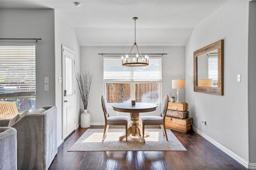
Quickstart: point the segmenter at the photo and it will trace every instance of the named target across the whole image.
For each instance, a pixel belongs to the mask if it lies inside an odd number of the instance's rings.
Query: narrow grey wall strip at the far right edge
[[[256,1],[249,2],[249,59],[248,59],[248,100],[249,100],[249,162],[256,166]]]

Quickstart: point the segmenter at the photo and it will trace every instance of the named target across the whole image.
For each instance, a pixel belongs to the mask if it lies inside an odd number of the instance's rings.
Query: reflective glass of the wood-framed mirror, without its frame
[[[218,87],[218,50],[198,56],[197,63],[198,86]]]

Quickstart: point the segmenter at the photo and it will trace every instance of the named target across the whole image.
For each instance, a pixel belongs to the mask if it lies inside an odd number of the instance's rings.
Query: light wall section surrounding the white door
[[[58,77],[62,77],[62,45],[72,49],[76,52],[75,54],[75,70],[80,69],[80,46],[78,44],[74,29],[68,25],[68,23],[55,12],[55,96],[56,106],[58,108],[58,120],[57,120],[57,140],[58,144],[62,142],[62,83],[58,83]],[[76,82],[75,82],[76,84]],[[79,127],[80,123],[80,96],[76,86],[76,128]]]

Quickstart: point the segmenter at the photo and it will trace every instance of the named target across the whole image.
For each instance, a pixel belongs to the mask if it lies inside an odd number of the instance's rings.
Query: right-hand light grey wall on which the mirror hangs
[[[224,95],[194,92],[193,52],[220,39],[224,39]],[[194,29],[186,44],[186,101],[194,127],[230,150],[240,163],[249,161],[247,68],[248,2],[228,1]],[[237,74],[242,75],[241,82],[236,82]],[[200,126],[203,119],[206,126]]]

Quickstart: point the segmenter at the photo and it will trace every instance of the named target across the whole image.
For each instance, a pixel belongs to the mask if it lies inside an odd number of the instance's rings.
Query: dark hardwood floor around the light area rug
[[[172,131],[187,151],[68,152],[87,129],[79,127],[64,141],[49,170],[246,170],[194,131]]]

